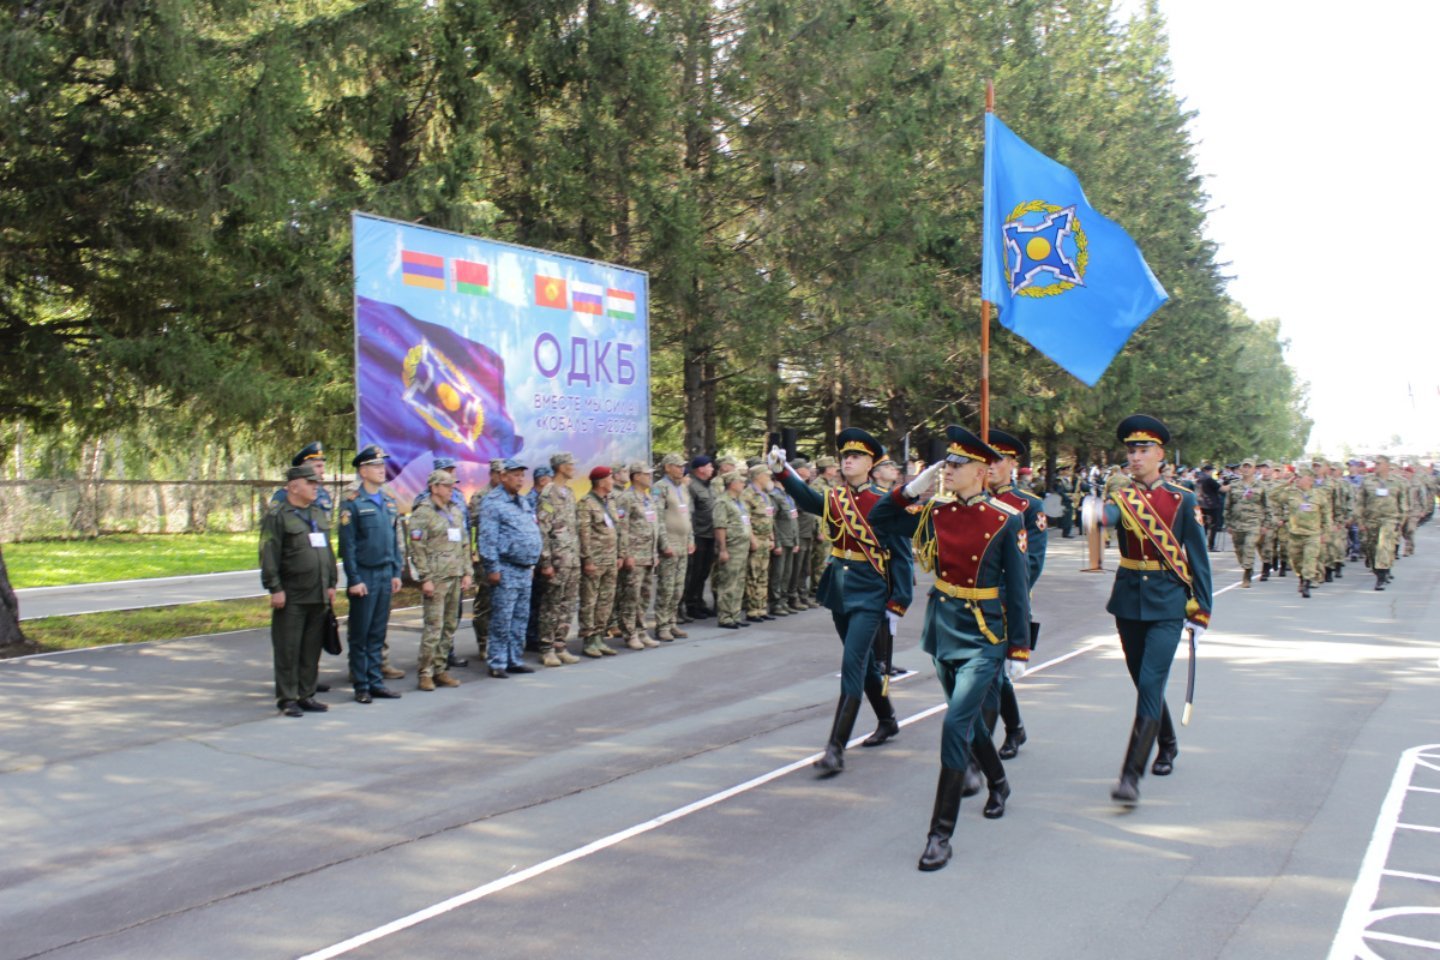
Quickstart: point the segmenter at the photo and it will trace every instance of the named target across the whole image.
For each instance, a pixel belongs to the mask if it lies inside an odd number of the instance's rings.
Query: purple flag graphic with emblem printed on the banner
[[[494,350],[366,296],[356,334],[363,442],[383,446],[396,469],[426,452],[481,463],[524,446]]]

